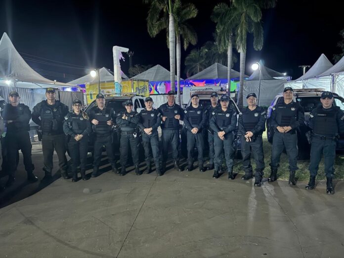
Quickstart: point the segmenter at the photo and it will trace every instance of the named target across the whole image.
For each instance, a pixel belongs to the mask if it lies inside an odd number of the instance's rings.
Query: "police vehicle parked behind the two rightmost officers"
[[[305,121],[305,125],[297,130],[299,148],[298,159],[309,159],[310,140],[309,133],[307,133],[310,130],[307,127],[309,113],[313,110],[313,108],[321,105],[320,97],[323,91],[325,91],[325,89],[323,88],[294,89],[294,101],[298,102],[303,107]],[[333,105],[339,106],[342,110],[344,110],[344,98],[337,93],[333,93],[333,96],[335,98]],[[278,103],[281,103],[282,101],[284,101],[283,93],[279,93],[273,98],[273,100],[271,101],[271,105],[267,109],[266,134],[267,140],[270,143],[272,143],[274,134],[274,129],[271,127],[270,124],[272,107]],[[344,150],[344,134],[340,134],[340,140],[337,142],[337,150]]]

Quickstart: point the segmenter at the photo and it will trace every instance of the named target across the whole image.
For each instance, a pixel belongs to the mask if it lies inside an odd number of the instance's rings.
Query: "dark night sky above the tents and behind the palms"
[[[185,78],[185,56],[192,48],[213,40],[215,24],[210,15],[215,4],[223,1],[190,0],[199,9],[197,18],[190,20],[198,34],[198,43],[190,45],[186,52],[182,50],[182,78]],[[1,35],[6,32],[29,65],[41,69],[48,79],[68,82],[89,72],[86,67],[105,66],[113,70],[113,45],[134,51],[133,64],[160,64],[169,70],[166,33],[154,39],[149,37],[148,6],[142,0],[0,2]],[[276,8],[263,12],[262,50],[255,51],[252,36],[248,38],[245,74],[252,73],[250,66],[259,59],[273,70],[287,72],[293,79],[302,75],[299,65],[312,65],[321,53],[333,63],[333,55],[340,52],[337,43],[341,40],[339,32],[344,29],[342,12],[339,1],[279,0]],[[128,68],[129,58],[122,63],[125,73]],[[239,71],[239,63],[234,69]]]

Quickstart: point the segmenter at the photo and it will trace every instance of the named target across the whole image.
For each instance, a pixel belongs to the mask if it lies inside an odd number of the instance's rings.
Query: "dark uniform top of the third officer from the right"
[[[238,129],[242,135],[245,135],[247,131],[258,135],[265,131],[265,121],[266,111],[263,108],[257,106],[254,110],[250,110],[246,107],[239,114]]]

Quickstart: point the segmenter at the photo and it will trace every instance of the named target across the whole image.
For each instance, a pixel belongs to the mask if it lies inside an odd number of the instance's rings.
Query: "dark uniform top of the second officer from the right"
[[[290,118],[289,125],[282,124],[282,116],[284,113],[289,112],[290,114],[293,113],[293,116]],[[304,125],[304,112],[303,108],[294,101],[286,104],[284,101],[282,103],[278,103],[277,105],[272,107],[272,113],[270,117],[271,126],[277,130],[279,126],[290,126],[292,129],[288,131],[288,133],[295,133],[295,129]]]

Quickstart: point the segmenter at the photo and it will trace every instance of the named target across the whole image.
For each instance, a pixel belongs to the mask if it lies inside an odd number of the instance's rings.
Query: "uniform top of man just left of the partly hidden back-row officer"
[[[189,131],[191,131],[193,128],[197,128],[198,131],[200,131],[206,126],[208,111],[202,106],[199,105],[197,108],[195,108],[190,105],[186,108],[184,113],[184,125]]]

